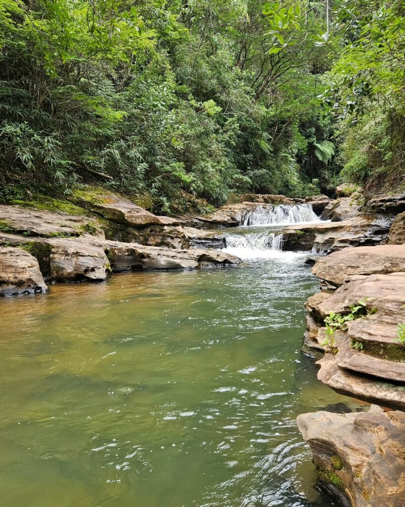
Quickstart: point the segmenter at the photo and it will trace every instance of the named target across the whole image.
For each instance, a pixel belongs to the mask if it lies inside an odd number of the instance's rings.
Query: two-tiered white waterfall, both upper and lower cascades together
[[[310,204],[258,205],[245,215],[240,227],[225,234],[226,247],[222,251],[240,259],[282,258],[289,262],[307,253],[282,251],[282,234],[277,231],[277,226],[317,222],[320,218]]]

